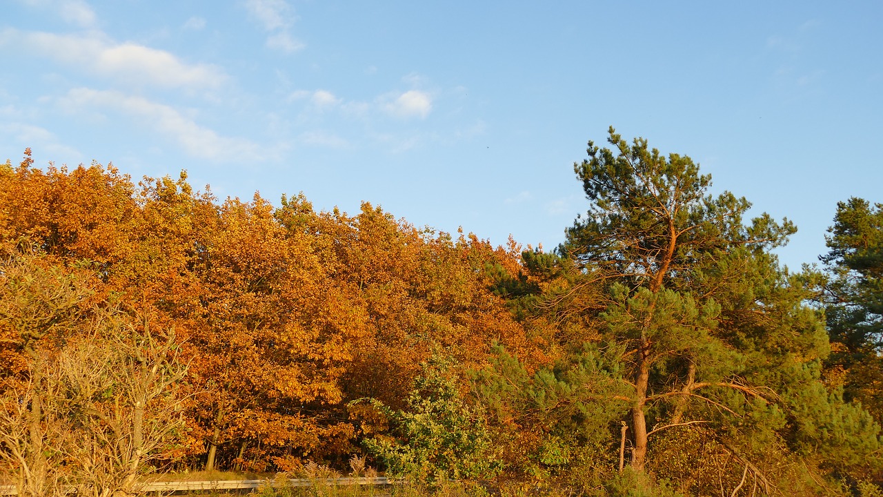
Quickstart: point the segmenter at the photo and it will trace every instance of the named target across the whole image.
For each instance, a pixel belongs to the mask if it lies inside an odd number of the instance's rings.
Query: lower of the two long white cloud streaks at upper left
[[[238,137],[220,136],[199,126],[177,109],[140,96],[126,96],[117,91],[74,88],[61,102],[68,108],[107,108],[132,116],[165,134],[191,157],[219,162],[253,161],[265,156],[257,143]]]

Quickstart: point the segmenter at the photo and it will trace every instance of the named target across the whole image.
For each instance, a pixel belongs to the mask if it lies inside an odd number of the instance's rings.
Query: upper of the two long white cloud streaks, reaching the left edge
[[[0,47],[14,45],[88,73],[169,88],[216,88],[227,76],[215,65],[189,65],[170,52],[132,42],[114,43],[102,35],[0,32]]]

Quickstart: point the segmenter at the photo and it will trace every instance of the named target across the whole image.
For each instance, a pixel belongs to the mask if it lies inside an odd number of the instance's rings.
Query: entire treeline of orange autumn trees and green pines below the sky
[[[126,492],[367,457],[476,492],[879,492],[880,206],[842,204],[828,271],[792,273],[787,220],[608,141],[551,253],[0,165],[4,474]]]

